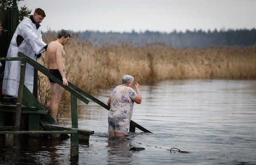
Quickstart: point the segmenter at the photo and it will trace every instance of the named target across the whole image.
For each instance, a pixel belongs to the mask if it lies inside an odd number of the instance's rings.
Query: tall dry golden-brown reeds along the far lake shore
[[[74,35],[74,34],[73,34]],[[46,43],[56,36],[43,36]],[[163,43],[144,47],[122,45],[93,46],[71,37],[64,46],[67,80],[88,93],[121,83],[123,75],[132,75],[141,85],[167,79],[256,79],[256,46],[250,48],[210,47],[171,48]],[[46,67],[45,53],[39,61]],[[50,100],[49,82],[40,77],[43,105]],[[62,98],[69,97],[67,91]]]

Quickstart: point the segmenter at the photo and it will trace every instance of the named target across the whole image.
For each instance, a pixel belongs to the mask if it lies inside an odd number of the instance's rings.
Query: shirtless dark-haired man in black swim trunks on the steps
[[[63,82],[63,85],[68,85],[65,77],[65,52],[63,45],[69,43],[70,34],[67,30],[62,29],[58,34],[58,39],[52,41],[47,48],[47,68],[49,73]],[[63,88],[49,78],[51,86],[51,102],[50,113],[54,120],[57,121],[58,105],[61,100]]]

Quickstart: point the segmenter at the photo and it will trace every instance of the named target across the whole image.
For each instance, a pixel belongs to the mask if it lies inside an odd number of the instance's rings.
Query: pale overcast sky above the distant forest
[[[185,32],[256,28],[256,0],[24,0],[42,8],[43,32]]]

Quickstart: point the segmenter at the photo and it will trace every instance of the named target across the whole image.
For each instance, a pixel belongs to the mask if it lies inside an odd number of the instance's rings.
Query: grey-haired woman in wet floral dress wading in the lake
[[[136,92],[131,88],[135,86]],[[125,136],[133,114],[133,104],[141,104],[139,84],[134,83],[134,78],[125,75],[122,84],[112,91],[107,104],[109,106],[108,122],[110,136]]]

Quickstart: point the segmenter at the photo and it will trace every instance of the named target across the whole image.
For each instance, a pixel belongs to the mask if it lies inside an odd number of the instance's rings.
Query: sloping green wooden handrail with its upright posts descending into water
[[[30,64],[32,67],[49,77],[51,80],[56,82],[57,84],[61,85],[64,89],[66,89],[69,93],[71,93],[71,117],[72,117],[72,128],[78,128],[78,117],[77,117],[77,98],[83,101],[85,104],[89,103],[88,99],[94,101],[96,104],[104,107],[105,109],[109,110],[107,104],[104,104],[97,98],[91,96],[89,93],[86,93],[82,89],[78,88],[77,86],[73,85],[71,82],[68,82],[68,86],[64,86],[58,78],[54,77],[48,72],[48,69],[43,65],[37,63],[36,61],[30,59],[23,53],[19,52],[20,57],[13,57],[13,58],[0,58],[0,61],[11,61],[11,60],[20,60],[21,61],[21,76],[20,76],[20,85],[18,90],[18,98],[17,98],[17,112],[16,112],[16,122],[15,126],[19,129],[20,123],[20,116],[21,116],[21,102],[22,102],[22,91],[23,91],[23,84],[24,84],[24,76],[25,76],[25,68],[26,63]],[[86,97],[86,98],[85,98]],[[87,99],[88,98],[88,99]],[[137,124],[133,120],[130,122],[130,132],[135,132],[135,128],[142,130],[145,133],[151,133],[146,128],[142,127],[141,125]]]

